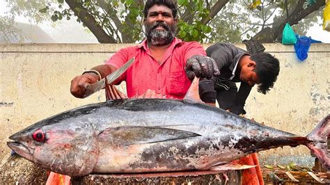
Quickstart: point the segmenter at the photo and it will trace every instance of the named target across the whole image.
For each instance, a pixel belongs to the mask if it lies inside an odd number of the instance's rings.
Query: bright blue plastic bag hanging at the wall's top
[[[304,61],[308,57],[307,53],[311,43],[321,43],[318,40],[313,40],[311,37],[296,35],[296,38],[297,42],[294,44],[294,49],[300,61]]]

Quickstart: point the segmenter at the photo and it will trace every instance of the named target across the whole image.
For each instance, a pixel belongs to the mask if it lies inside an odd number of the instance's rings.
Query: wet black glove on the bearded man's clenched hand
[[[219,76],[219,67],[213,58],[208,56],[195,55],[187,60],[186,64],[187,77],[191,80],[194,77],[211,79],[213,76]]]

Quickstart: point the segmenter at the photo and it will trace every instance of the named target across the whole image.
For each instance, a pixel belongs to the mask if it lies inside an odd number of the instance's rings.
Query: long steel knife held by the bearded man
[[[127,61],[127,63],[125,63],[122,67],[119,67],[118,70],[109,74],[107,76],[108,83],[110,84],[113,81],[115,81],[116,79],[118,79],[128,69],[128,67],[130,65],[132,65],[132,63],[134,63],[134,60],[135,60],[134,57],[129,59],[129,61]],[[88,97],[104,87],[105,87],[105,78],[101,79],[100,81],[97,81],[96,83],[93,83],[93,84],[87,83],[85,85],[85,96],[84,97]]]

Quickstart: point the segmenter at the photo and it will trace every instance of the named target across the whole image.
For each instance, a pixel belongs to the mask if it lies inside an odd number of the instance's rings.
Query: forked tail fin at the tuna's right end
[[[327,115],[306,138],[310,140],[306,146],[320,160],[325,168],[330,170],[330,154],[328,153],[327,139],[330,133],[330,115]]]

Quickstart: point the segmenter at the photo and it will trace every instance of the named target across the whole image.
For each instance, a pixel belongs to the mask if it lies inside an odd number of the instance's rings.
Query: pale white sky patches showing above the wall
[[[0,0],[0,15],[4,15],[6,11],[8,11],[6,1]],[[29,23],[29,19],[26,17],[16,17],[15,21]],[[321,19],[319,21],[322,22]],[[57,43],[97,43],[97,39],[93,33],[81,26],[75,19],[38,24],[38,26]],[[307,31],[306,36],[311,36],[313,40],[330,43],[330,32],[324,31],[322,26],[319,25],[311,27],[311,29]]]

